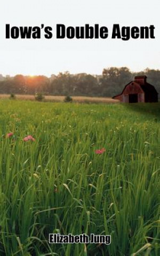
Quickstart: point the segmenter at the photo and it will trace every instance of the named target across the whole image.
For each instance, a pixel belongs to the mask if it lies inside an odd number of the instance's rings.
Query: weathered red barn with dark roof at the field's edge
[[[122,93],[113,97],[121,102],[158,102],[155,87],[147,83],[147,76],[135,76],[134,81],[127,84]]]

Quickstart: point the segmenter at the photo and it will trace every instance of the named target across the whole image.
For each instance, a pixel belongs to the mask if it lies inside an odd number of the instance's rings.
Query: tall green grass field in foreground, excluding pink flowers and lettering
[[[159,109],[0,100],[0,255],[160,255]]]

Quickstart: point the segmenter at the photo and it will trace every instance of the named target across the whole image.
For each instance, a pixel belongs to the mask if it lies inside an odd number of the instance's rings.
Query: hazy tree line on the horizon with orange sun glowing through
[[[51,77],[0,75],[0,93],[113,97],[138,75],[146,75],[147,82],[154,85],[160,95],[160,70],[147,68],[132,72],[127,67],[104,68],[101,75],[70,74],[68,71]]]

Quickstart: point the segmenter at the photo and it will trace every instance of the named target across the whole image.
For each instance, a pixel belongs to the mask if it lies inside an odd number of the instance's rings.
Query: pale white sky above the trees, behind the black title
[[[128,67],[131,71],[160,69],[159,0],[2,0],[0,4],[0,74],[102,74],[103,68]],[[53,38],[6,39],[5,25],[51,26]],[[57,39],[57,24],[66,27],[108,27],[107,39]],[[155,26],[155,39],[111,38],[114,24]]]

